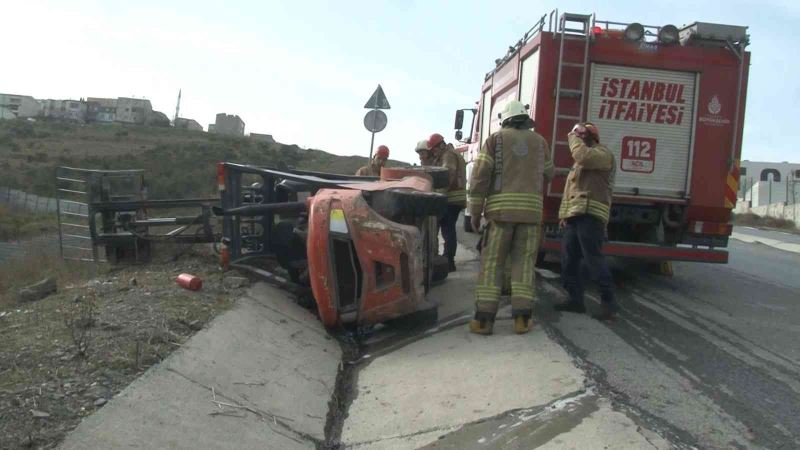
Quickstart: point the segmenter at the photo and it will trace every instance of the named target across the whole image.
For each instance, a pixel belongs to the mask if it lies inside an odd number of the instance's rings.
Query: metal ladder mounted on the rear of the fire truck
[[[583,120],[584,116],[584,104],[586,99],[586,75],[588,73],[587,66],[589,64],[589,38],[591,34],[592,24],[594,22],[594,15],[586,15],[586,14],[570,14],[564,13],[559,18],[558,24],[558,35],[561,39],[561,43],[559,46],[558,52],[558,73],[556,76],[556,90],[555,90],[555,97],[556,97],[556,107],[555,113],[553,117],[553,135],[551,138],[551,148],[550,148],[550,156],[555,161],[555,152],[556,146],[567,146],[568,143],[566,141],[566,136],[558,136],[558,125],[559,122],[562,120],[569,121],[571,123],[580,122]],[[567,61],[566,55],[564,54],[564,47],[567,40],[574,40],[574,41],[581,41],[584,42],[583,46],[583,59],[580,62],[576,61]],[[564,68],[577,68],[581,71],[581,84],[578,89],[566,89],[562,86],[561,77],[564,72]],[[577,116],[568,115],[561,113],[561,99],[562,98],[575,98],[578,99],[579,112]],[[559,140],[561,138],[561,140]],[[556,169],[556,173],[568,171],[568,169],[563,169],[559,171]]]

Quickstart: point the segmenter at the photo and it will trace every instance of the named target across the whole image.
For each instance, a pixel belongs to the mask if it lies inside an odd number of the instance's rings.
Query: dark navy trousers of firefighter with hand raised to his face
[[[605,223],[600,219],[589,214],[567,219],[561,239],[561,279],[569,301],[583,305],[581,261],[585,261],[589,274],[600,288],[600,300],[615,311],[614,280],[602,253],[604,240]]]

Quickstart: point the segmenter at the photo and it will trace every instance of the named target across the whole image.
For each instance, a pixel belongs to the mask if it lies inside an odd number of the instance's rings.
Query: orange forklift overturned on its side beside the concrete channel
[[[447,198],[434,192],[446,169],[383,168],[378,179],[220,163],[217,178],[223,266],[278,280],[280,268],[310,287],[327,327],[436,321],[426,293],[447,277],[437,256]]]

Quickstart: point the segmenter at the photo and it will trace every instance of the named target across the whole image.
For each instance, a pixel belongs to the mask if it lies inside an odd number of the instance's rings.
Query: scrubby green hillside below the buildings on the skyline
[[[0,120],[0,185],[38,195],[54,196],[55,168],[71,166],[144,169],[152,198],[214,196],[219,161],[351,174],[367,158],[172,128]]]

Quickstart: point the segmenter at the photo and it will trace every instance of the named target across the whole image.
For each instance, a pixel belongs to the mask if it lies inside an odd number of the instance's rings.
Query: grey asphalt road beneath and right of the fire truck
[[[672,277],[626,264],[612,323],[552,311],[564,292],[540,271],[538,321],[615,409],[677,447],[798,448],[800,254],[736,240],[729,250],[727,265],[675,263]],[[591,311],[598,298],[588,297]]]

